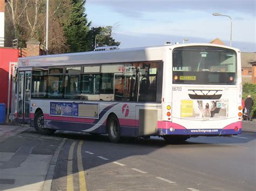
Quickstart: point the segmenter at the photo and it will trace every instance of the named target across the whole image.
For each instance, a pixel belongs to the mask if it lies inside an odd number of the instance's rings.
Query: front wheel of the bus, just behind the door
[[[53,129],[44,128],[44,115],[42,111],[38,111],[35,114],[35,129],[42,135],[51,135],[55,132]]]

